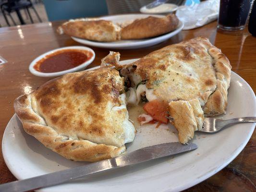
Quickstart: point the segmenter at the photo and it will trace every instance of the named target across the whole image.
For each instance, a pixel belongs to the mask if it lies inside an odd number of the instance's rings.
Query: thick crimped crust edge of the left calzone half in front
[[[87,140],[72,140],[56,132],[31,108],[30,95],[15,99],[14,109],[23,124],[24,131],[61,156],[75,161],[99,161],[120,155],[125,146],[116,147],[95,144]]]

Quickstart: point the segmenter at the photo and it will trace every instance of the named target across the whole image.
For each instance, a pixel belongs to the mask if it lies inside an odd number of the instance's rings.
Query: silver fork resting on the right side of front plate
[[[256,122],[256,117],[239,117],[230,120],[205,118],[202,130],[199,132],[219,132],[222,128],[236,123]]]

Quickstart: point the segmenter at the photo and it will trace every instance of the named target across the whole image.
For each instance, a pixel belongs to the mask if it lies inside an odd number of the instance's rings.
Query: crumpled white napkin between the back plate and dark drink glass
[[[183,22],[183,30],[194,29],[218,18],[219,0],[207,0],[191,6],[181,6],[176,16]]]

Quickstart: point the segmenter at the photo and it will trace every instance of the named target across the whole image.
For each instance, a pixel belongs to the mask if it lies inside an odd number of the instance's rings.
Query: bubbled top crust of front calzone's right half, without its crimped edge
[[[217,86],[212,46],[197,37],[154,51],[133,63],[135,73],[147,80],[147,88],[166,102],[198,99],[204,106]]]

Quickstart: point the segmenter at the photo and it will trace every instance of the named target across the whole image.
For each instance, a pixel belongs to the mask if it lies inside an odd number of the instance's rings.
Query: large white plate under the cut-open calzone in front
[[[134,60],[122,61],[127,64]],[[246,98],[246,99],[245,99]],[[256,97],[251,87],[231,73],[228,108],[223,119],[256,116]],[[237,124],[215,134],[195,133],[198,149],[143,164],[119,168],[70,183],[38,190],[40,192],[177,192],[189,188],[228,165],[244,148],[255,123]],[[169,124],[141,127],[127,151],[153,144],[177,142],[177,132]],[[21,179],[87,164],[74,162],[52,152],[23,131],[14,115],[2,140],[4,160],[13,175]]]

